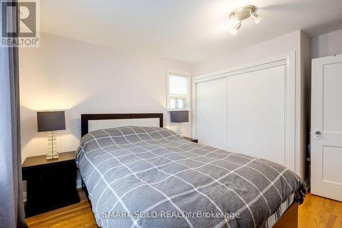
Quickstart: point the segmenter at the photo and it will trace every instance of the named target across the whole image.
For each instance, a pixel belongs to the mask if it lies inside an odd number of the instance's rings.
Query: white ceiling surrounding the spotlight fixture
[[[96,45],[203,62],[302,29],[342,29],[342,0],[43,0],[41,30]],[[256,5],[263,21],[229,33],[228,14]]]

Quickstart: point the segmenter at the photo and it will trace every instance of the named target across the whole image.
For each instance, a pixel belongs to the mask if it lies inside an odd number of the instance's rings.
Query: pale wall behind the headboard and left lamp
[[[169,125],[167,69],[189,72],[180,62],[51,34],[41,34],[40,48],[21,48],[19,55],[23,161],[47,151],[46,132],[37,132],[38,110],[66,110],[66,130],[58,131],[57,147],[73,151],[81,136],[81,114],[163,112]],[[191,136],[191,123],[184,128]]]

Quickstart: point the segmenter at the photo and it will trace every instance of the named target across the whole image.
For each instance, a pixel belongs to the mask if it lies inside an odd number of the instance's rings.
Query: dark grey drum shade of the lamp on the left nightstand
[[[37,112],[38,132],[65,130],[65,112]]]

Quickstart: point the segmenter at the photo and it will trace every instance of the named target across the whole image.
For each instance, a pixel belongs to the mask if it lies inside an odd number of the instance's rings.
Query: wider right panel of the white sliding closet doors
[[[285,66],[227,77],[228,151],[285,164]]]

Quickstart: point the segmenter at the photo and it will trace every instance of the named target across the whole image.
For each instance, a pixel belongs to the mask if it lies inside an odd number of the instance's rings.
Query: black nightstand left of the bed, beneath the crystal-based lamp
[[[79,202],[75,151],[60,153],[54,160],[47,160],[47,155],[27,157],[22,168],[27,181],[26,217]]]

